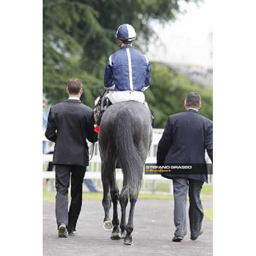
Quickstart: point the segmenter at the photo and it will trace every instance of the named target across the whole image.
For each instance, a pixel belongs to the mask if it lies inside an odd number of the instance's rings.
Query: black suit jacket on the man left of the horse
[[[94,130],[93,110],[80,100],[67,99],[50,108],[45,136],[55,143],[53,164],[87,166],[86,139],[98,140]]]

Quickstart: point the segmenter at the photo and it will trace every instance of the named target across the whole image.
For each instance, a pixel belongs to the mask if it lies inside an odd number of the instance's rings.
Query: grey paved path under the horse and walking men
[[[204,208],[212,207],[212,203],[208,202],[203,202],[203,205]],[[174,234],[173,207],[173,201],[137,201],[134,214],[134,245],[127,246],[123,244],[123,240],[110,240],[111,233],[103,230],[104,212],[100,201],[83,201],[81,215],[77,223],[79,235],[68,238],[58,238],[55,224],[55,204],[43,203],[43,255],[212,255],[212,224],[206,218],[203,221],[204,234],[198,240],[191,241],[189,239],[188,225],[188,233],[182,242],[171,241]]]

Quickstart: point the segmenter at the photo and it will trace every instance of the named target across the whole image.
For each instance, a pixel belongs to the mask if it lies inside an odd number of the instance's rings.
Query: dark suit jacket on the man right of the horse
[[[204,174],[200,172],[201,174],[162,174],[162,176],[184,177],[207,182],[205,150],[213,161],[212,133],[212,121],[193,109],[169,116],[157,148],[157,165],[201,163],[204,165]]]

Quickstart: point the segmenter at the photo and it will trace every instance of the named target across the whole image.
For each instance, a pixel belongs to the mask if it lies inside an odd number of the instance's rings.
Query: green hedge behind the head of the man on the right
[[[201,95],[200,113],[212,120],[212,88],[190,81],[165,64],[152,63],[151,66],[151,86],[145,91],[145,97],[154,113],[155,128],[164,128],[169,115],[184,111],[184,99],[190,92]]]

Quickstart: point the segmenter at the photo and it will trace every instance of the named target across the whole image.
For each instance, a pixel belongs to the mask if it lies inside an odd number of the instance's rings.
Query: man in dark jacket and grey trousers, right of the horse
[[[162,174],[173,180],[175,200],[175,237],[172,241],[182,241],[186,235],[186,196],[189,190],[190,239],[196,240],[202,234],[204,217],[200,192],[204,182],[208,182],[205,150],[212,160],[212,121],[198,113],[201,96],[189,93],[186,96],[185,112],[169,116],[163,136],[157,148],[157,165],[199,163],[204,172],[186,174]],[[201,169],[201,168],[200,168]],[[201,173],[201,174],[199,174]]]

